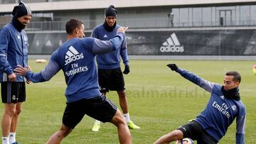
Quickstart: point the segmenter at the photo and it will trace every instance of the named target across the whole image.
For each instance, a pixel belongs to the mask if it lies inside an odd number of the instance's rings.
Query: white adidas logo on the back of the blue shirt
[[[75,48],[71,45],[70,48],[68,48],[68,52],[65,54],[65,65],[68,65],[70,62],[75,62],[76,60],[82,59],[84,56],[82,53],[80,54],[78,50],[75,50]]]

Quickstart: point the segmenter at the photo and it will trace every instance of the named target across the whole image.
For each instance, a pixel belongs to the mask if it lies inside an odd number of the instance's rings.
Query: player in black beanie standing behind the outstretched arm
[[[110,40],[111,38],[114,38],[114,35],[117,33],[117,29],[120,27],[117,25],[116,21],[117,13],[117,9],[115,9],[113,5],[105,9],[105,23],[95,27],[92,30],[91,36],[100,40]],[[122,57],[125,66],[123,72],[120,68],[120,56]],[[109,91],[116,91],[119,96],[119,104],[124,118],[127,121],[127,125],[131,129],[138,129],[139,126],[136,126],[129,118],[128,101],[124,87],[123,74],[128,74],[130,72],[129,59],[127,55],[127,41],[124,39],[122,45],[114,52],[100,54],[97,55],[96,58],[100,92],[106,95]],[[92,131],[99,131],[99,129],[100,121],[95,121]]]

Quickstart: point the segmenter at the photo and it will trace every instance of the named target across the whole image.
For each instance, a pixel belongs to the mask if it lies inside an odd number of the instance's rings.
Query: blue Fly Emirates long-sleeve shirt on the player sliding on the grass
[[[236,118],[236,143],[245,143],[245,115],[246,110],[244,104],[240,100],[226,99],[221,92],[221,85],[213,82],[208,82],[197,75],[178,68],[176,71],[182,77],[197,84],[199,87],[210,92],[210,99],[196,121],[200,123],[204,130],[206,130],[216,141],[225,135],[228,126]]]

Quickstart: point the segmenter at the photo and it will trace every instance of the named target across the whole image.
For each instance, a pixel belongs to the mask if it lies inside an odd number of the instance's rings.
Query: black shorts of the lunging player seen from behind
[[[116,112],[117,106],[106,96],[100,94],[92,99],[67,103],[63,113],[63,124],[69,128],[75,128],[85,114],[103,123],[110,122]]]

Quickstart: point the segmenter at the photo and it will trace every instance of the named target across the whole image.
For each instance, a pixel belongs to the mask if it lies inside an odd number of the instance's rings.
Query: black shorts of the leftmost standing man
[[[26,101],[25,82],[1,82],[2,103]]]

